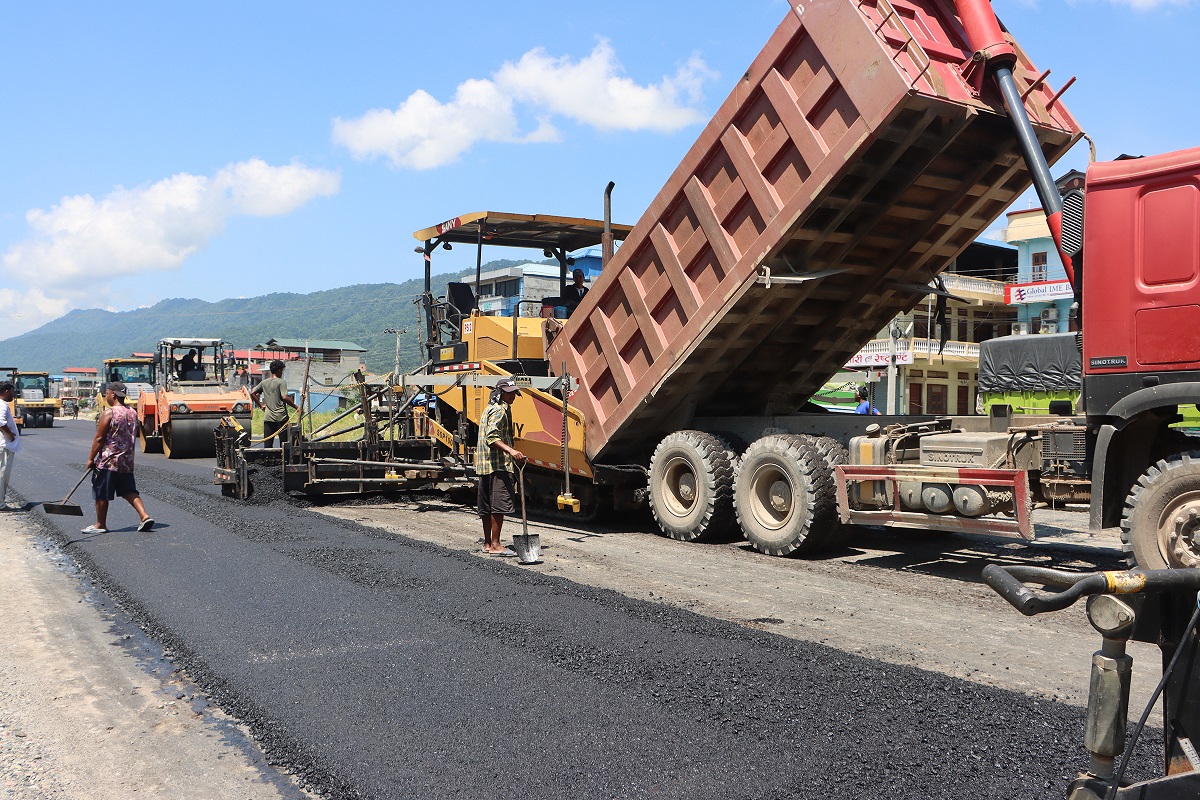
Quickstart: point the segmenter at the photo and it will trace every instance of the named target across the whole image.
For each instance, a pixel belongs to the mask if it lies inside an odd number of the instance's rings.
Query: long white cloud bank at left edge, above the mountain
[[[113,278],[176,269],[230,217],[287,215],[336,194],[340,181],[334,172],[253,158],[212,176],[180,173],[149,186],[118,187],[98,200],[77,194],[48,211],[32,209],[25,213],[29,235],[0,260],[10,283],[0,288],[0,317],[10,321],[0,336],[31,330],[71,308],[104,305]]]

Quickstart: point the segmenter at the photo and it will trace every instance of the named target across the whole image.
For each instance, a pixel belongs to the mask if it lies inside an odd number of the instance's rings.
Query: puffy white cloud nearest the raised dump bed
[[[359,160],[385,157],[396,167],[433,169],[479,142],[557,140],[556,115],[602,131],[670,132],[703,121],[696,106],[713,74],[692,56],[673,76],[641,85],[623,74],[607,41],[580,61],[538,48],[516,64],[505,62],[491,78],[458,84],[446,103],[419,89],[395,110],[337,118],[332,137]],[[518,106],[536,119],[532,132],[521,133]]]

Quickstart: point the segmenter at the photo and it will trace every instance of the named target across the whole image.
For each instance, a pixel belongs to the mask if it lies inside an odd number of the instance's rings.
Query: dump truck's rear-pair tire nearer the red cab
[[[836,522],[833,479],[811,437],[775,434],[746,447],[733,504],[746,541],[768,555],[814,553]]]

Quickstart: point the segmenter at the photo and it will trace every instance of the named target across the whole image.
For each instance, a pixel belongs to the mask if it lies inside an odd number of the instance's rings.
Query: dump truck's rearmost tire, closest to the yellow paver
[[[702,431],[668,434],[650,457],[650,511],[662,533],[684,542],[734,530],[733,446]]]

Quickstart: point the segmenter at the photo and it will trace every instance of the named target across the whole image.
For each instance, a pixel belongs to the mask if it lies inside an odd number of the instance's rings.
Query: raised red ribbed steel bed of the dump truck
[[[797,5],[550,349],[590,458],[800,407],[1030,185],[944,0]],[[1050,162],[1080,130],[1019,52]]]

